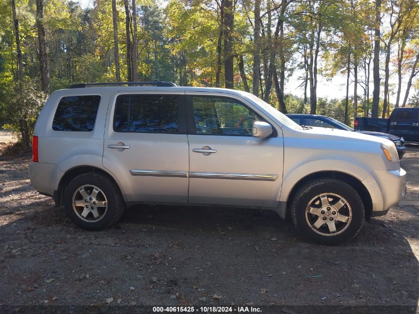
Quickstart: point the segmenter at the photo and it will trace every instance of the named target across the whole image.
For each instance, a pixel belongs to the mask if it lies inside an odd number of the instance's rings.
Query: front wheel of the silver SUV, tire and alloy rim
[[[349,184],[317,179],[304,184],[291,203],[294,225],[306,239],[321,245],[340,245],[362,227],[365,209]]]

